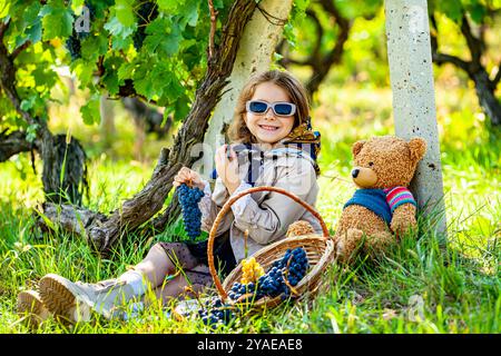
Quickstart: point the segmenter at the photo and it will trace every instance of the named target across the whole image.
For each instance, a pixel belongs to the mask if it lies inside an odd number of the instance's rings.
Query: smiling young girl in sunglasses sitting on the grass
[[[208,181],[189,168],[181,168],[174,178],[175,187],[190,181],[205,191],[199,202],[203,230],[210,231],[229,197],[253,186],[281,187],[314,206],[318,192],[315,159],[320,134],[311,130],[306,92],[294,77],[267,71],[252,78],[238,98],[229,137],[233,145],[224,145],[215,155],[214,191]],[[242,197],[232,205],[216,231],[214,257],[219,271],[228,274],[245,258],[245,245],[250,256],[284,238],[288,226],[299,219],[322,234],[312,214],[284,195],[259,191]],[[18,305],[20,310],[30,307],[41,319],[48,309],[70,322],[87,320],[90,308],[106,317],[124,316],[117,307],[141,297],[148,288],[165,301],[183,296],[188,285],[199,290],[212,283],[207,241],[157,243],[143,261],[117,279],[72,283],[49,274],[39,283],[40,295],[23,291]]]

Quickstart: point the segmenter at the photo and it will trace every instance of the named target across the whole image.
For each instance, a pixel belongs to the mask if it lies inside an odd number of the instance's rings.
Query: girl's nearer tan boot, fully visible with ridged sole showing
[[[121,306],[135,297],[132,287],[108,279],[96,284],[71,281],[49,274],[40,279],[40,296],[55,317],[63,322],[89,322],[90,310],[106,318],[120,318]]]

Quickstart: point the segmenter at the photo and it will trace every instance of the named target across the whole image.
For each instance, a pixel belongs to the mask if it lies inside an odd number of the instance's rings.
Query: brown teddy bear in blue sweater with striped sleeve
[[[409,229],[416,228],[416,201],[409,190],[426,151],[422,138],[373,137],[352,147],[357,189],[344,205],[336,233],[336,255],[353,261],[358,251],[381,256]]]

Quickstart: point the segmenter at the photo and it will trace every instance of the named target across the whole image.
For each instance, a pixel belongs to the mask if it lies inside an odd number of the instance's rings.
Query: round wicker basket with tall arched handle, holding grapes
[[[334,240],[328,235],[328,229],[320,216],[320,214],[308,204],[303,201],[299,197],[297,197],[294,194],[291,194],[282,188],[276,187],[269,187],[269,186],[263,186],[263,187],[255,187],[246,189],[238,195],[232,197],[226,201],[226,204],[223,206],[222,210],[217,215],[213,228],[210,229],[208,243],[207,243],[207,256],[208,256],[208,266],[210,270],[210,275],[213,276],[214,283],[216,285],[217,291],[219,293],[219,296],[223,301],[227,298],[226,290],[229,290],[235,281],[239,281],[242,277],[242,264],[238,264],[237,267],[226,277],[223,285],[220,283],[220,279],[217,275],[216,268],[214,267],[214,239],[216,237],[216,230],[217,227],[223,219],[223,217],[226,215],[226,212],[230,209],[232,205],[242,198],[243,196],[246,196],[252,192],[256,191],[276,191],[283,195],[286,195],[294,201],[302,205],[306,210],[313,214],[315,218],[318,219],[324,236],[320,235],[306,235],[301,237],[289,237],[284,238],[282,240],[278,240],[269,246],[264,247],[263,249],[258,250],[256,254],[253,255],[255,257],[256,261],[264,268],[264,270],[268,270],[273,263],[276,260],[282,259],[282,257],[285,255],[285,251],[291,248],[294,249],[296,247],[302,247],[306,251],[306,256],[308,258],[310,263],[310,269],[306,276],[297,284],[297,286],[294,287],[294,290],[296,294],[292,293],[291,296],[293,298],[302,299],[306,295],[314,296],[318,287],[322,283],[322,276],[324,273],[324,269],[333,261],[334,259]],[[259,308],[272,308],[282,303],[281,296],[277,296],[275,298],[272,297],[263,297],[258,300],[256,300],[254,304],[252,304],[253,308],[259,309]]]

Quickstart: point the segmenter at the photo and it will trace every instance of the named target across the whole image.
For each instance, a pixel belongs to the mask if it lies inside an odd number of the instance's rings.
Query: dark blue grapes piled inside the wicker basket
[[[303,248],[297,247],[294,250],[287,249],[284,257],[272,265],[272,268],[257,279],[257,284],[235,283],[232,286],[228,297],[235,301],[258,300],[265,296],[282,296],[287,299],[291,296],[291,288],[285,283],[295,287],[306,275],[308,260]]]

